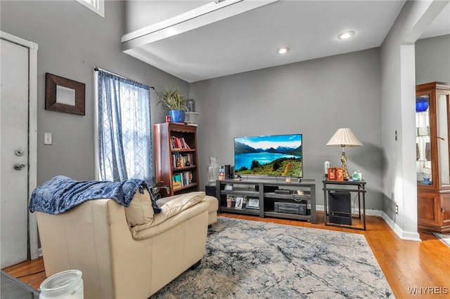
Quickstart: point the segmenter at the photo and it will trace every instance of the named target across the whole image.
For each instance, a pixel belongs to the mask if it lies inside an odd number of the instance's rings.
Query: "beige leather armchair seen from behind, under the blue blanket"
[[[37,212],[46,276],[81,270],[84,298],[148,298],[203,258],[204,198],[182,194],[158,214],[147,191],[128,208],[96,199],[58,215]]]

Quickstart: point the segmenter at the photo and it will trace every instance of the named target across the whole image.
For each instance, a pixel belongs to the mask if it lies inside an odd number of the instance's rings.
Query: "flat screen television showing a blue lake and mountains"
[[[303,178],[302,134],[234,138],[236,175]]]

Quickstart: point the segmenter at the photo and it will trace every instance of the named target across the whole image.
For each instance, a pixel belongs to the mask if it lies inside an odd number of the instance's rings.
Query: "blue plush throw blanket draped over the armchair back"
[[[34,189],[29,208],[30,212],[59,214],[91,199],[113,199],[122,206],[129,206],[138,189],[143,194],[143,188],[150,192],[146,181],[138,179],[123,182],[77,181],[58,175]],[[151,192],[150,197],[155,214],[160,213],[161,208]]]

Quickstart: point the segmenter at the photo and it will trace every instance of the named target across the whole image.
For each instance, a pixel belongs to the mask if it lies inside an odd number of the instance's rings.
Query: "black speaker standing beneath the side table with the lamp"
[[[350,192],[329,191],[330,222],[352,225],[352,199]]]

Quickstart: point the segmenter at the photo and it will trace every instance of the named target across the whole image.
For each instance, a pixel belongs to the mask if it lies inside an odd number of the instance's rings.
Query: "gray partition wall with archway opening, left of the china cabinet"
[[[380,48],[383,211],[401,239],[418,240],[420,237],[417,232],[414,44],[446,4],[446,1],[406,1]],[[394,213],[395,204],[399,206],[398,214]]]

